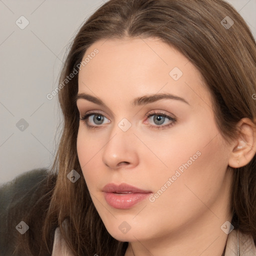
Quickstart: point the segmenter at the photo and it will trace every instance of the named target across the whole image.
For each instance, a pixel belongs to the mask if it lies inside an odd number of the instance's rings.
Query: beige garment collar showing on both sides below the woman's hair
[[[238,246],[237,246],[238,244]],[[239,252],[238,252],[239,251]],[[255,256],[256,247],[251,236],[233,229],[227,236],[224,256]],[[60,235],[59,227],[55,229],[51,256],[73,256],[64,239]]]

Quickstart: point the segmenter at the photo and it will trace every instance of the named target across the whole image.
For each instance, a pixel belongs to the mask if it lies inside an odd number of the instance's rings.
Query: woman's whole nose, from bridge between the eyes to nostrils
[[[117,168],[121,162],[136,165],[138,155],[135,139],[131,123],[126,118],[122,118],[111,129],[109,140],[103,148],[103,162],[113,169]]]

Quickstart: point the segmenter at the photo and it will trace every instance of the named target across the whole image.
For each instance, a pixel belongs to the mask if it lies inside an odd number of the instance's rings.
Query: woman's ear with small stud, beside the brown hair
[[[242,118],[237,128],[238,137],[233,141],[234,146],[228,161],[228,165],[233,168],[246,165],[256,153],[256,124],[249,118]]]

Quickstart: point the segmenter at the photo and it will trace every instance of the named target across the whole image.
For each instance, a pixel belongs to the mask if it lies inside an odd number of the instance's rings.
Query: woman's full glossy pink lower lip
[[[117,193],[104,192],[104,197],[110,206],[117,209],[128,209],[147,198],[149,194],[150,193],[127,193],[120,195]]]

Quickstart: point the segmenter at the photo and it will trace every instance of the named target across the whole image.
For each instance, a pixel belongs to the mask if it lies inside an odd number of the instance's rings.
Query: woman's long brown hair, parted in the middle
[[[255,39],[230,4],[223,0],[109,0],[80,27],[68,49],[59,83],[77,69],[94,42],[126,36],[158,37],[198,68],[211,92],[217,127],[226,140],[236,137],[235,127],[241,118],[248,117],[256,123],[256,101],[252,96],[256,93]],[[49,173],[49,179],[56,178],[56,174],[57,178],[44,200],[48,207],[43,228],[31,230],[24,237],[31,251],[46,255],[42,248],[46,244],[49,251],[52,249],[52,234],[59,225],[74,255],[119,256],[124,254],[127,242],[117,241],[104,227],[77,158],[77,78],[75,74],[58,91],[63,131]],[[74,183],[67,178],[72,169],[81,175]],[[250,234],[256,243],[255,155],[246,166],[233,169],[230,198],[232,224],[235,228],[239,225],[239,230]],[[32,225],[35,220],[29,218],[28,225]],[[66,229],[62,226],[64,220]]]

